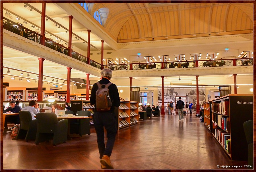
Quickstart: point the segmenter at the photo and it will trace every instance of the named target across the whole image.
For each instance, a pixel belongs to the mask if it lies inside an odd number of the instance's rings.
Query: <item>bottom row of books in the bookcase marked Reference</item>
[[[223,131],[222,129],[215,128],[215,137],[222,144],[222,147],[230,154],[230,133]]]

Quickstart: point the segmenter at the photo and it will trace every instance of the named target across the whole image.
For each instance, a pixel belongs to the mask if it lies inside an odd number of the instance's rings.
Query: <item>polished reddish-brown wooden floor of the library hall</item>
[[[120,129],[111,156],[115,169],[245,169],[232,161],[195,114],[164,115]],[[218,168],[217,165],[242,165]],[[91,135],[66,143],[36,145],[3,134],[3,169],[100,169],[94,127]]]

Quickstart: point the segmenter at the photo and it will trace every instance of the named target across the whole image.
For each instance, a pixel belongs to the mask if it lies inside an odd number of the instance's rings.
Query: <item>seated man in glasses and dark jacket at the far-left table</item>
[[[20,107],[15,104],[15,101],[10,102],[10,107],[5,110],[6,112],[14,112],[15,114],[18,114],[20,111]],[[5,124],[4,129],[8,129],[7,122],[11,122],[14,124],[20,123],[20,117],[18,115],[12,116],[8,115],[5,117]]]

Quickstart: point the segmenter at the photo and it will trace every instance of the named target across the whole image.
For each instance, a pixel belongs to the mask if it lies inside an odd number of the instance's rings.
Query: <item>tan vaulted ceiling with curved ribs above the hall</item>
[[[93,3],[117,42],[252,33],[253,3]]]

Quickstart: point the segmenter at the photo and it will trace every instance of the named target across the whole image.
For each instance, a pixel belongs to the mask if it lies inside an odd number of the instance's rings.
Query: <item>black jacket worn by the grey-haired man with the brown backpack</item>
[[[106,78],[102,78],[100,80],[100,84],[108,84],[110,83],[110,81]],[[120,106],[120,98],[119,98],[119,93],[118,93],[118,89],[116,87],[115,84],[111,84],[109,87],[109,97],[112,101],[112,106],[110,108],[109,111],[106,112],[111,112],[114,113],[115,107],[119,107]],[[91,92],[91,97],[90,97],[90,103],[94,104],[95,108],[94,108],[94,112],[97,112],[97,108],[96,108],[96,91],[98,90],[98,85],[97,83],[93,84],[92,86],[92,92]]]

